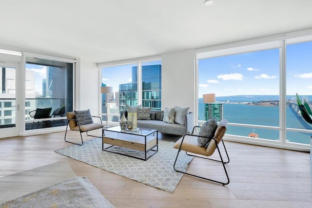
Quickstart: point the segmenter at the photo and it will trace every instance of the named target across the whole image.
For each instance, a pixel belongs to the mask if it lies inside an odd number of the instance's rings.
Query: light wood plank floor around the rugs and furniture
[[[100,132],[93,132],[100,135]],[[84,135],[84,139],[94,137]],[[78,132],[68,132],[68,139]],[[178,137],[161,135],[176,141]],[[230,184],[222,186],[184,175],[174,193],[95,168],[54,151],[72,145],[64,132],[0,139],[0,177],[66,161],[78,176],[92,184],[116,208],[311,208],[310,153],[225,142]],[[195,158],[188,171],[222,179],[220,164]]]

